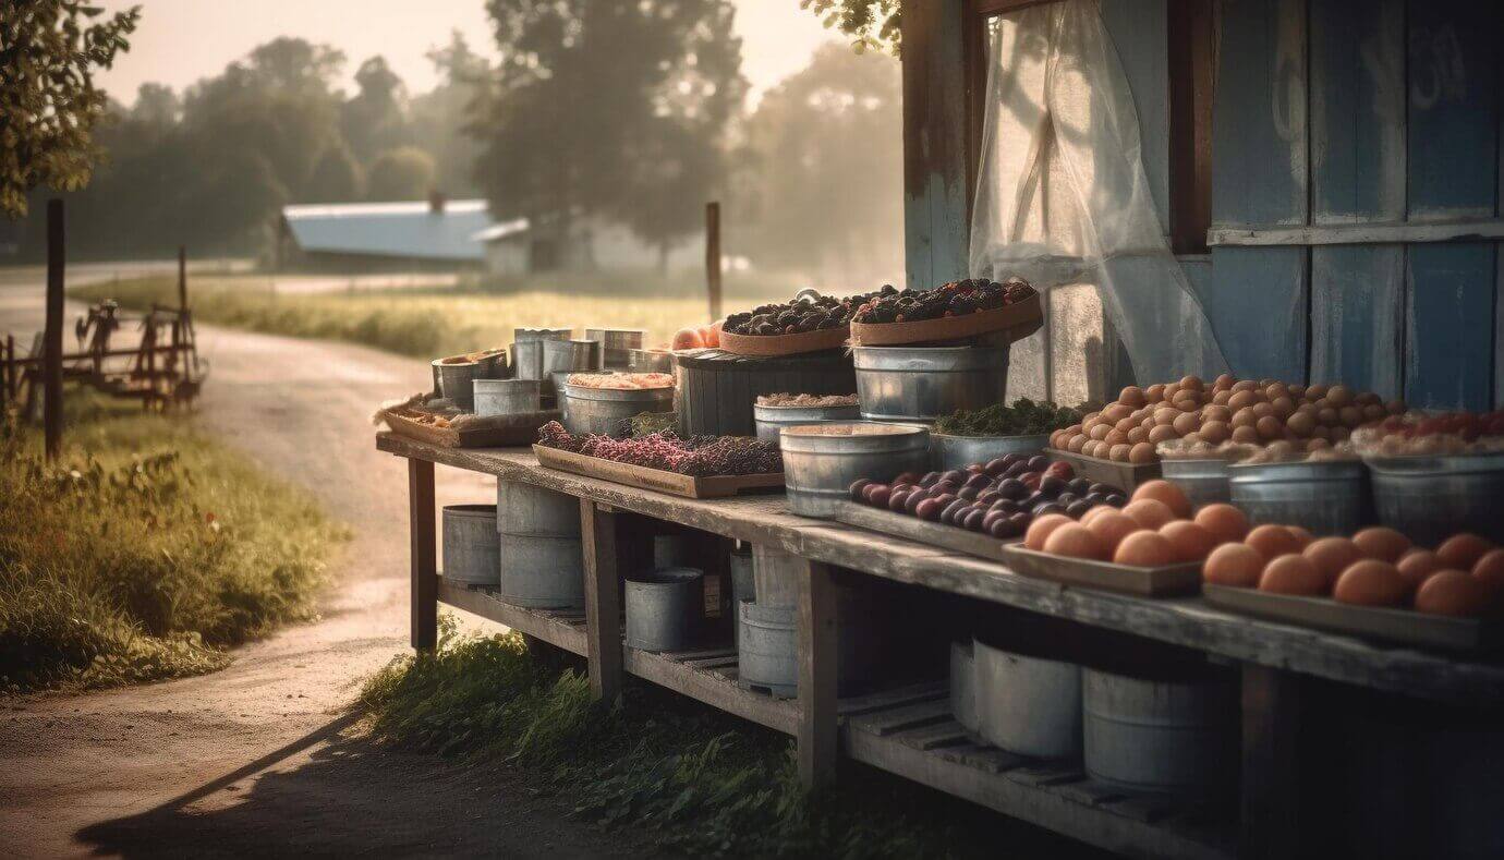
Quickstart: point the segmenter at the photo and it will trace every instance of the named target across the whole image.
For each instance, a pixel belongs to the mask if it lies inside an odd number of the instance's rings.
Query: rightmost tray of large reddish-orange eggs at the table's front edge
[[[1412,546],[1384,526],[1311,538],[1262,525],[1206,558],[1206,603],[1334,633],[1453,651],[1504,645],[1504,549],[1474,534]]]

